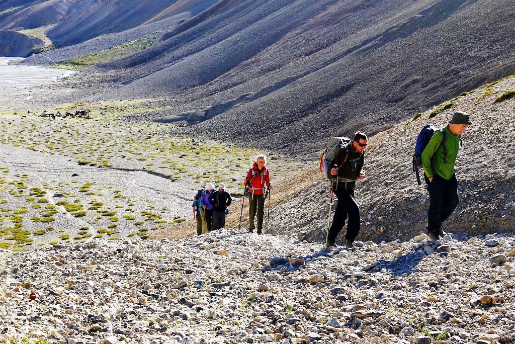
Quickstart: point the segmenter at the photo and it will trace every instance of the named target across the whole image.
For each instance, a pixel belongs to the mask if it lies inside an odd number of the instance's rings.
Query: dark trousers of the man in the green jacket
[[[439,175],[433,176],[433,181],[425,177],[427,191],[429,192],[430,205],[427,210],[427,231],[439,234],[440,225],[458,207],[458,180],[456,174],[447,180]]]

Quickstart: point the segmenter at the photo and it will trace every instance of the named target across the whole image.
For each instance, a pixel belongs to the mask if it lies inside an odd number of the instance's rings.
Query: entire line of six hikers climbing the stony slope
[[[457,111],[449,124],[441,129],[434,125],[425,126],[417,137],[413,155],[413,170],[417,173],[419,184],[419,167],[423,168],[424,181],[430,196],[430,206],[427,210],[427,235],[436,242],[445,233],[442,222],[447,220],[459,203],[458,181],[456,179],[456,158],[461,144],[461,134],[472,124],[466,112]],[[327,248],[336,246],[336,238],[345,227],[345,245],[354,247],[354,240],[359,234],[361,216],[355,199],[356,181],[365,179],[366,150],[368,137],[363,132],[356,132],[354,139],[347,137],[332,137],[327,148],[320,155],[320,171],[331,181],[331,197],[329,204],[328,232],[325,241]],[[260,154],[252,167],[247,171],[243,182],[245,195],[249,199],[249,232],[257,229],[263,233],[265,199],[270,202],[270,171],[265,166],[266,157]],[[337,203],[331,224],[331,208],[333,196]],[[202,182],[202,188],[197,192],[193,201],[194,214],[197,220],[197,235],[224,228],[225,217],[231,204],[231,195],[225,191],[225,185],[220,183],[218,190],[213,192],[211,183]],[[245,196],[242,197],[243,214]],[[268,203],[270,205],[270,203]],[[254,223],[257,217],[257,227]]]

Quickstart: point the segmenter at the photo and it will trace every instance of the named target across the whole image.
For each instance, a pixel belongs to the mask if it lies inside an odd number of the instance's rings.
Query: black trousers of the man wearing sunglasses
[[[354,200],[354,189],[345,190],[345,188],[337,188],[334,191],[336,197],[338,197],[338,203],[336,203],[336,210],[334,211],[333,224],[329,233],[327,233],[328,240],[335,240],[338,233],[344,228],[345,220],[347,221],[347,233],[345,237],[354,241],[357,234],[359,233],[359,207]]]

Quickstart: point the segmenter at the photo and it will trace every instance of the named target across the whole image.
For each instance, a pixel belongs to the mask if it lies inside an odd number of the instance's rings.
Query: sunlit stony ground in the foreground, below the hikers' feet
[[[0,250],[2,335],[51,343],[515,341],[512,235],[321,250],[220,230]],[[291,264],[290,264],[291,263]]]

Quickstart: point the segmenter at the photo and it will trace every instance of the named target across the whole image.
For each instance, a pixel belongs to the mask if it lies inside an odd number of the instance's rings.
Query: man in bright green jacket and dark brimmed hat
[[[472,124],[466,112],[457,111],[449,124],[441,131],[435,131],[422,152],[424,179],[429,192],[430,205],[427,210],[427,234],[431,241],[443,236],[442,222],[447,220],[459,203],[458,181],[454,170],[458,156],[461,134]],[[443,140],[444,145],[440,147]]]

